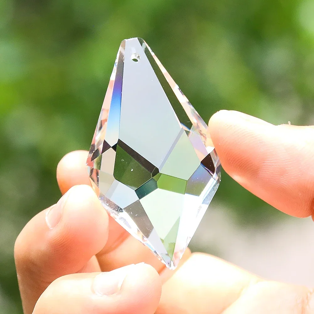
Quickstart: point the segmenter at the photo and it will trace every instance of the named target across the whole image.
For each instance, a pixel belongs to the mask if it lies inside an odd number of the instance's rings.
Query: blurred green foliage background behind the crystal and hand
[[[313,0],[0,1],[0,313],[22,313],[13,260],[60,196],[56,166],[89,149],[117,49],[143,37],[203,118],[235,109],[314,124]],[[284,215],[225,173],[239,224]]]

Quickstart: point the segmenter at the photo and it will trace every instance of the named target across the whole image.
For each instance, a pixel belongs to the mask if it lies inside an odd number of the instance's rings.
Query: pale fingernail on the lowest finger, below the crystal
[[[121,290],[127,274],[132,272],[135,265],[127,265],[110,272],[100,273],[94,278],[94,292],[96,295],[113,295]]]

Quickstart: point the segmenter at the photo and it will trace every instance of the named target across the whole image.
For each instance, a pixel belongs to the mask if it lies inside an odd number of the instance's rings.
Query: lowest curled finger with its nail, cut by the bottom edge
[[[77,273],[56,279],[33,314],[153,314],[161,294],[158,273],[140,263],[106,273]]]

